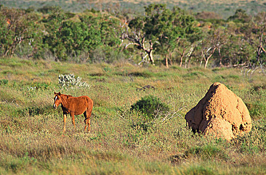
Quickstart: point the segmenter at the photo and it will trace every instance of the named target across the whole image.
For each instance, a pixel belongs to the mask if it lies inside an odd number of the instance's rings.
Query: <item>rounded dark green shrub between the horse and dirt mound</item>
[[[154,120],[157,116],[165,114],[169,106],[153,95],[142,97],[135,104],[131,105],[130,110],[139,111],[147,120]]]

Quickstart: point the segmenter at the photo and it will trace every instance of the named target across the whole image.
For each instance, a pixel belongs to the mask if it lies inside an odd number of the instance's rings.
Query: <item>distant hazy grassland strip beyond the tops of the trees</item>
[[[128,10],[130,13],[142,13],[144,6],[150,3],[166,3],[170,8],[179,6],[192,12],[215,11],[224,19],[233,15],[238,8],[245,9],[251,15],[266,11],[265,0],[1,0],[1,3],[16,8],[37,9],[44,5],[57,5],[72,12],[90,8],[113,8],[120,11]]]

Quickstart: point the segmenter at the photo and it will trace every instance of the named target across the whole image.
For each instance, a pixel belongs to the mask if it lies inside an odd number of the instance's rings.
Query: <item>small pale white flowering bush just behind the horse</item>
[[[81,77],[75,78],[75,75],[72,73],[69,74],[60,74],[58,76],[58,82],[60,87],[90,87],[87,82],[82,82]]]

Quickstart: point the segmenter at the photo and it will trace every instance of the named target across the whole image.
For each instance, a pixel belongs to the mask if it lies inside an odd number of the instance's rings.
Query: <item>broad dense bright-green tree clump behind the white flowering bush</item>
[[[56,59],[66,60],[73,56],[86,61],[97,48],[110,51],[120,45],[118,19],[89,11],[69,17],[57,8],[44,19],[47,33],[43,43]]]

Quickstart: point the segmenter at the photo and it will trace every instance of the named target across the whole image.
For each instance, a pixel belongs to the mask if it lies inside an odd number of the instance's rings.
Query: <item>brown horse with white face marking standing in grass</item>
[[[66,124],[66,115],[70,113],[72,117],[72,123],[75,126],[75,115],[80,115],[83,113],[85,119],[85,128],[84,131],[86,131],[86,127],[88,125],[88,131],[90,131],[90,115],[93,107],[93,101],[88,96],[71,96],[71,95],[65,95],[61,94],[60,92],[56,93],[54,92],[54,103],[53,108],[57,108],[59,104],[61,104],[61,108],[63,110],[63,116],[64,116],[64,128],[65,131],[65,124]]]

